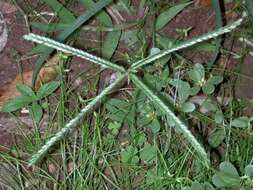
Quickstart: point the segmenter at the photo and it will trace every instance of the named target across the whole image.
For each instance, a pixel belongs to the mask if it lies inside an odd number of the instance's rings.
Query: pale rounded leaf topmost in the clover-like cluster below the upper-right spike
[[[197,63],[188,72],[188,75],[194,82],[201,84],[205,79],[205,68],[202,64]]]

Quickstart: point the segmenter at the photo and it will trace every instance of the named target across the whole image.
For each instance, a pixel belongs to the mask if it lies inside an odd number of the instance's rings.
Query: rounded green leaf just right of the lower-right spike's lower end
[[[217,127],[210,132],[207,140],[211,147],[216,148],[223,142],[225,138],[225,129],[223,127]]]

